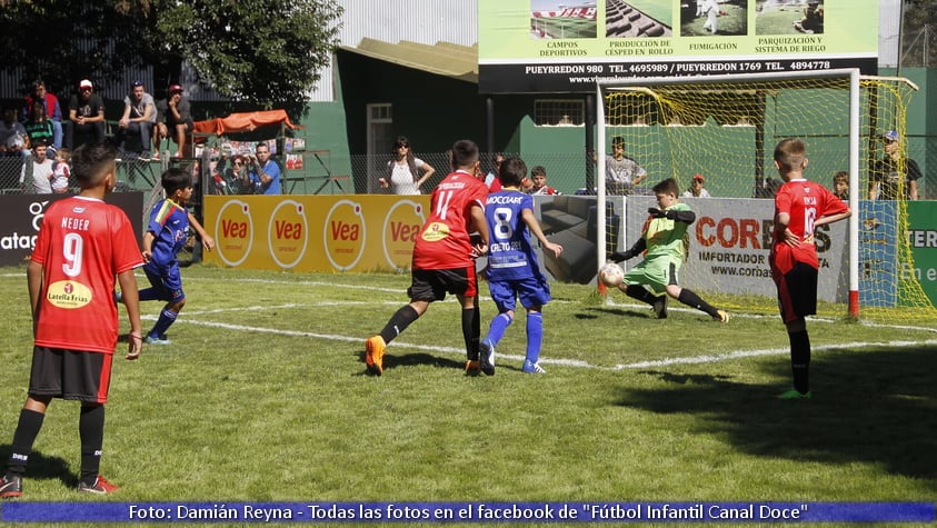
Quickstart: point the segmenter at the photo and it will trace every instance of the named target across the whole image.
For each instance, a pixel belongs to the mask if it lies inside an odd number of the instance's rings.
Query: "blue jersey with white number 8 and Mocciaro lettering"
[[[534,198],[517,190],[488,195],[485,218],[488,221],[488,280],[515,280],[540,277],[540,265],[530,245],[530,231],[521,212],[534,210]]]

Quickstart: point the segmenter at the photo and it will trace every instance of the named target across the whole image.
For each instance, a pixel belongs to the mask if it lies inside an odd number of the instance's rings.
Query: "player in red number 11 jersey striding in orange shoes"
[[[462,307],[462,337],[466,341],[466,371],[479,371],[478,278],[475,258],[488,250],[485,198],[488,188],[481,181],[478,146],[470,140],[452,146],[452,172],[432,191],[430,216],[413,246],[412,282],[407,289],[410,302],[390,318],[383,330],[366,343],[365,362],[376,376],[383,372],[387,343],[422,316],[429,303],[452,293]],[[478,231],[474,243],[470,233]]]

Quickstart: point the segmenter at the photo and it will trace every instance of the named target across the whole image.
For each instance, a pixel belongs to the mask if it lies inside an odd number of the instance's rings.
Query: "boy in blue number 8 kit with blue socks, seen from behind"
[[[488,335],[479,345],[481,371],[488,376],[495,375],[495,347],[514,322],[516,301],[520,298],[520,303],[527,309],[527,355],[521,370],[544,373],[545,370],[538,363],[544,340],[541,309],[550,301],[550,286],[540,271],[530,245],[530,233],[537,237],[546,251],[551,251],[557,258],[562,253],[562,246],[547,240],[534,216],[534,198],[520,192],[520,181],[527,175],[524,161],[509,158],[501,163],[498,172],[502,190],[488,195],[485,207],[488,247],[491,251],[488,256],[488,289],[498,307],[498,315],[491,320]],[[537,181],[536,176],[534,181]]]

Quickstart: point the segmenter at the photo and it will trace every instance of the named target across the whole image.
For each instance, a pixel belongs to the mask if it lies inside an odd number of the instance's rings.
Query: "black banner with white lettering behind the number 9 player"
[[[36,237],[49,203],[69,195],[3,195],[0,196],[0,266],[16,266],[29,259]],[[106,200],[123,210],[130,218],[137,242],[143,231],[143,193],[116,192]]]

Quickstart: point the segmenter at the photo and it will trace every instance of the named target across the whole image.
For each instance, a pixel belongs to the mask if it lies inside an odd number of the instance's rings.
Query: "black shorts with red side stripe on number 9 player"
[[[33,347],[30,396],[106,404],[113,355]]]

